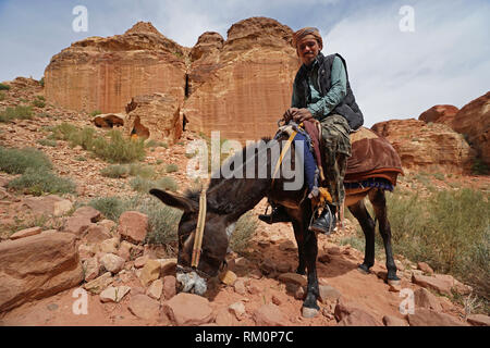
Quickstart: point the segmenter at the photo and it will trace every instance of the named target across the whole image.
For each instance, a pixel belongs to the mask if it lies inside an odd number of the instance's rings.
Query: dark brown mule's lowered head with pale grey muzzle
[[[196,237],[199,202],[197,197],[183,197],[157,188],[150,194],[167,206],[177,208],[184,213],[179,223],[179,254],[176,266],[177,291],[204,295],[210,278],[218,276],[224,264],[231,224],[228,215],[207,209],[200,259],[197,268],[192,268],[192,253]],[[197,198],[197,199],[196,199]]]

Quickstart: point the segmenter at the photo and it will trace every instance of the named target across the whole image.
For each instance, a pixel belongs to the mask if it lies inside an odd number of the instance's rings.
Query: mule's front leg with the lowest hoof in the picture
[[[320,295],[317,277],[318,243],[317,235],[310,231],[307,231],[307,228],[304,228],[304,236],[308,284],[306,287],[306,298],[303,302],[303,316],[313,318],[317,315],[320,309],[317,304],[317,299]]]

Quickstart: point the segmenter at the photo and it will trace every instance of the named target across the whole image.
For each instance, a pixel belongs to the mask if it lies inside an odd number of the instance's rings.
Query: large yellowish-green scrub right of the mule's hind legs
[[[490,298],[490,199],[471,189],[389,195],[393,250],[414,262],[425,261]]]

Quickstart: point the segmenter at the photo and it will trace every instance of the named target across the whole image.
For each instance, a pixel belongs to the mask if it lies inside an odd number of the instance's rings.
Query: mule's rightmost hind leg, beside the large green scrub
[[[388,221],[387,198],[384,190],[371,189],[369,200],[375,208],[376,219],[379,221],[379,233],[383,238],[384,251],[387,253],[388,283],[397,284],[400,278],[396,276],[396,264],[393,260],[393,250],[391,248],[391,227]]]

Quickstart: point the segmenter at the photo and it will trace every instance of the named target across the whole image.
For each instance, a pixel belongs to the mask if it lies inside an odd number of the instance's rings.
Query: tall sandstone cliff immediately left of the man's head
[[[199,37],[183,108],[188,129],[242,141],[272,136],[299,67],[292,34],[274,20],[252,17],[232,25],[226,41],[217,33]]]

